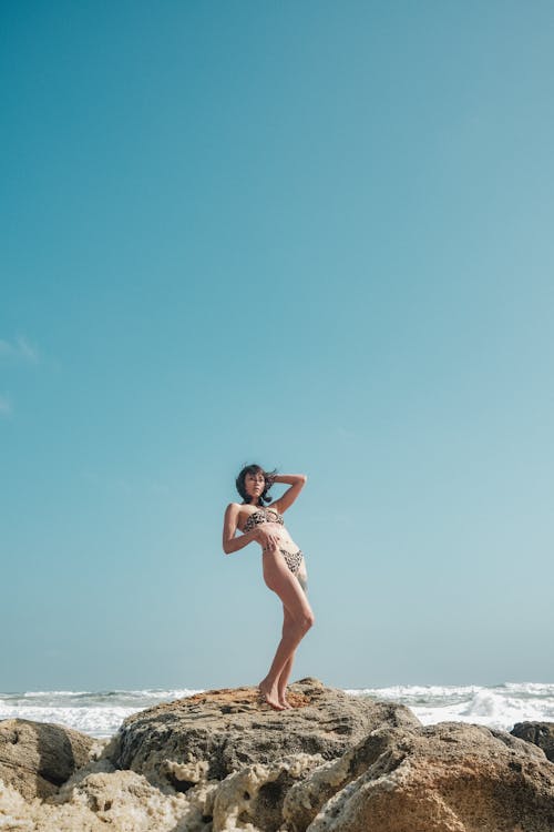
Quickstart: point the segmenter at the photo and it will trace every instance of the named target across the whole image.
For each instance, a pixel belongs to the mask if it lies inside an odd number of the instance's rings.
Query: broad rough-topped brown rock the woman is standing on
[[[245,765],[290,754],[340,757],[373,729],[420,722],[404,706],[351,697],[317,679],[290,686],[288,711],[258,701],[255,688],[207,691],[129,717],[106,755],[160,788],[186,792]]]

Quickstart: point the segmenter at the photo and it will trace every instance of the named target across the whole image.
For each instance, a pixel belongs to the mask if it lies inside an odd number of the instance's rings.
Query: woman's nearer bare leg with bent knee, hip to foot
[[[284,710],[284,706],[279,702],[278,679],[287,662],[293,661],[296,648],[312,626],[314,612],[306,593],[286,566],[280,552],[265,551],[263,560],[264,579],[267,586],[279,596],[289,612],[288,618],[283,622],[283,636],[271,667],[258,686],[268,704],[280,711]]]

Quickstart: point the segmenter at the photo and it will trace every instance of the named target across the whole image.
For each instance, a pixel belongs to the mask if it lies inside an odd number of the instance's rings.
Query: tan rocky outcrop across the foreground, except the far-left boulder
[[[423,727],[314,679],[290,698],[295,709],[276,713],[240,688],[135,714],[50,797],[25,801],[0,781],[0,828],[553,832],[554,764],[536,745],[480,726]]]

